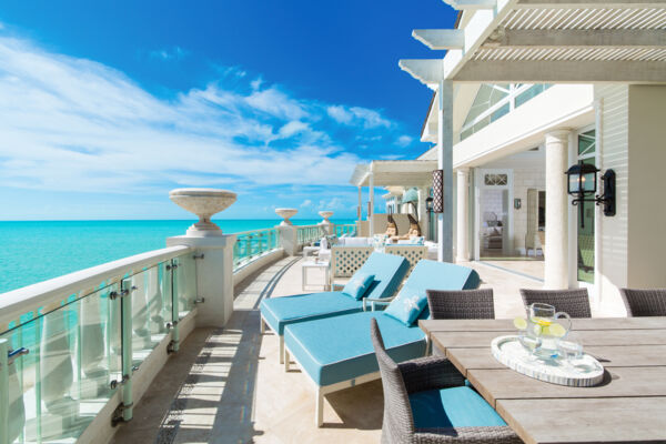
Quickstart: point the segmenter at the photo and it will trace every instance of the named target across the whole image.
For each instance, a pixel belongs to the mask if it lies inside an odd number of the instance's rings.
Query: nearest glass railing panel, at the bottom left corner
[[[121,374],[120,299],[110,297],[118,290],[70,297],[0,335],[28,351],[8,367],[9,442],[75,442],[109,402]]]

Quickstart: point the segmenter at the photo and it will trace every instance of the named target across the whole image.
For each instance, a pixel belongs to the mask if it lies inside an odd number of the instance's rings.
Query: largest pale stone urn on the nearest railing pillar
[[[234,203],[236,194],[212,188],[180,188],[169,192],[169,199],[199,218],[199,222],[188,229],[189,236],[209,238],[222,235],[222,230],[211,222],[211,218]]]

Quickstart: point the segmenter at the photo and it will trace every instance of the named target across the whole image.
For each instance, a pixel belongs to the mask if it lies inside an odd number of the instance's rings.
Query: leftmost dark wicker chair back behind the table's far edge
[[[495,319],[493,289],[426,291],[434,320]]]

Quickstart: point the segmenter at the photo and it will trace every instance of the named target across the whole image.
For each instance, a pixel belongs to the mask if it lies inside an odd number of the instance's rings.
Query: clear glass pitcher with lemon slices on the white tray
[[[559,320],[565,320],[562,325]],[[555,327],[555,325],[557,325]],[[556,312],[549,304],[535,302],[527,307],[527,329],[522,336],[523,345],[538,357],[557,357],[557,342],[572,330],[572,319],[564,312]],[[538,344],[535,347],[534,344]]]

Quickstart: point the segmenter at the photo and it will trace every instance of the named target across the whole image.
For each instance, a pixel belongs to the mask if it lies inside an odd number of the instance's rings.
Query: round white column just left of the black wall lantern
[[[546,251],[544,287],[568,287],[566,174],[569,130],[546,134]]]

